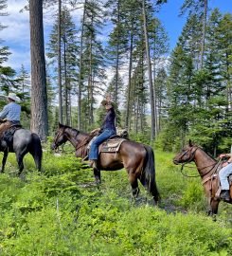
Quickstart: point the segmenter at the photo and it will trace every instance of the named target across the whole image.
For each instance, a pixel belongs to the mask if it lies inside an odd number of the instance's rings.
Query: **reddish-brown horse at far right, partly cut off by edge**
[[[216,161],[211,156],[207,155],[203,149],[192,144],[189,140],[188,145],[185,146],[180,153],[173,158],[174,164],[187,164],[195,162],[199,176],[202,178],[202,184],[205,189],[205,194],[208,204],[208,215],[218,213],[218,206],[221,201],[217,194],[219,188],[219,170],[222,168],[222,162]],[[230,201],[232,203],[232,186],[230,186]]]

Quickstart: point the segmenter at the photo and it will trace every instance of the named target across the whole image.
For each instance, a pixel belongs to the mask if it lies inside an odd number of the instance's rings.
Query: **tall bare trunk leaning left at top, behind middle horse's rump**
[[[148,65],[148,73],[149,73],[149,88],[150,88],[150,102],[151,102],[151,141],[154,139],[155,135],[155,125],[154,120],[156,116],[156,109],[154,108],[154,90],[152,86],[152,65],[151,65],[151,57],[150,57],[150,47],[149,47],[149,38],[148,38],[148,30],[147,30],[147,15],[145,9],[145,0],[143,0],[143,27],[144,27],[144,37],[145,37],[145,44],[146,44],[146,55],[147,55],[147,65]]]

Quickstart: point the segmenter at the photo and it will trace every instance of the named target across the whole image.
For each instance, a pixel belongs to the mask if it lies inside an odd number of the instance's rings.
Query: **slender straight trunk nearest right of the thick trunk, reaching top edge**
[[[58,87],[59,121],[62,123],[62,0],[58,0]]]

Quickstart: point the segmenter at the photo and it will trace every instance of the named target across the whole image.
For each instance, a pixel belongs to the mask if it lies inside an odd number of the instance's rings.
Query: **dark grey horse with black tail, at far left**
[[[33,156],[36,168],[41,172],[43,152],[41,140],[37,134],[31,133],[27,129],[20,128],[14,132],[12,141],[8,142],[4,137],[0,139],[0,151],[4,153],[0,173],[4,173],[9,153],[15,153],[16,155],[19,166],[18,175],[24,170],[23,159],[27,153]]]

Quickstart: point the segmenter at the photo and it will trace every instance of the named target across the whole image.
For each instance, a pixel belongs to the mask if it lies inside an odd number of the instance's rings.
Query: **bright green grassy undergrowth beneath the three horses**
[[[97,188],[73,153],[46,151],[44,174],[28,155],[19,178],[10,155],[0,176],[0,255],[231,255],[231,205],[221,203],[217,222],[205,216],[200,179],[183,176],[172,157],[155,152],[162,202],[153,208],[141,186],[134,202],[125,170],[102,172]]]

